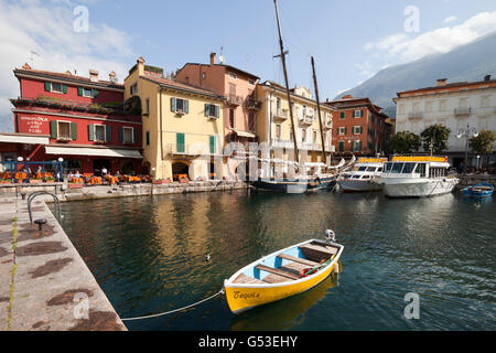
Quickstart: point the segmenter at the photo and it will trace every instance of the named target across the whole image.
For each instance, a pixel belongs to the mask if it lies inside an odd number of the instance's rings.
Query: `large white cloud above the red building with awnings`
[[[48,3],[0,0],[0,129],[13,125],[8,99],[19,96],[19,82],[12,69],[26,62],[33,68],[45,71],[76,69],[78,75],[86,76],[89,68],[95,68],[104,78],[111,71],[120,81],[126,77],[136,56],[131,50],[136,39],[105,23],[93,23],[90,9],[88,32],[75,32],[74,7],[68,0]]]

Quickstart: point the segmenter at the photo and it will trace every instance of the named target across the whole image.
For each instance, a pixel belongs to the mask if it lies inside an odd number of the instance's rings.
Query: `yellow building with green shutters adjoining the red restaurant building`
[[[155,180],[219,179],[225,173],[225,97],[163,77],[142,57],[125,79],[125,99],[139,97],[143,160]]]

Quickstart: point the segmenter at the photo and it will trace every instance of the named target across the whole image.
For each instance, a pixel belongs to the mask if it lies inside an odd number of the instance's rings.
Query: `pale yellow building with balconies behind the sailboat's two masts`
[[[257,99],[262,101],[262,108],[257,116],[257,136],[260,143],[268,146],[268,149],[260,149],[262,158],[272,161],[279,159],[294,161],[294,142],[285,88],[267,81],[258,85]],[[321,172],[323,170],[323,165],[321,165],[323,149],[316,101],[312,99],[312,94],[308,88],[296,86],[291,89],[291,103],[300,163],[306,163],[306,172]],[[332,111],[331,107],[321,104],[327,165],[330,156],[334,151]],[[270,156],[267,154],[268,150]],[[271,176],[273,172],[274,167],[271,165]]]

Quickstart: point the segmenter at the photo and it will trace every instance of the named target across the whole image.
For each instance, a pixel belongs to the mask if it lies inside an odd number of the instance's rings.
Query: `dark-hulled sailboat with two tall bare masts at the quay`
[[[278,23],[278,33],[279,33],[279,44],[280,44],[280,51],[281,54],[277,55],[281,57],[282,61],[282,68],[284,73],[284,82],[285,82],[285,93],[288,96],[288,104],[291,107],[291,92],[289,88],[289,81],[288,81],[288,72],[285,67],[285,55],[288,54],[287,51],[284,51],[284,45],[282,42],[282,34],[281,34],[281,23],[279,20],[279,11],[278,11],[278,3],[277,0],[273,1],[274,8],[276,8],[276,19]],[[320,101],[319,101],[319,90],[316,85],[316,76],[315,76],[315,67],[314,67],[314,60],[312,56],[312,68],[313,68],[313,76],[314,76],[314,85],[315,85],[315,95],[316,95],[316,103],[317,103],[317,113],[319,113],[319,122],[320,122],[320,130],[321,130],[321,137],[322,137],[322,149],[323,149],[323,164],[324,170],[327,169],[327,165],[325,163],[326,154],[325,154],[325,143],[324,143],[324,135],[323,135],[323,126],[322,126],[322,119],[321,119],[321,108],[320,108]],[[293,143],[294,143],[294,162],[292,163],[298,170],[299,174],[292,178],[258,178],[256,181],[251,182],[251,185],[255,186],[257,190],[263,190],[263,191],[281,191],[285,193],[304,193],[310,191],[316,191],[322,189],[332,189],[336,185],[336,176],[333,173],[323,173],[323,174],[315,174],[315,175],[305,175],[302,174],[302,171],[306,170],[306,167],[309,163],[301,164],[300,163],[300,152],[298,149],[298,141],[296,141],[296,132],[294,128],[294,118],[293,118],[293,109],[289,109],[289,115],[291,118],[291,129],[292,129],[292,136]],[[322,167],[322,165],[319,165]]]

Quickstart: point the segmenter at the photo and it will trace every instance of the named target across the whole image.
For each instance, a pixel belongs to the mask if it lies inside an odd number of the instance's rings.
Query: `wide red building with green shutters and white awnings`
[[[48,138],[47,145],[20,141],[18,157],[63,158],[69,170],[82,173],[98,174],[104,167],[112,174],[142,172],[141,109],[125,111],[125,87],[114,72],[108,81],[99,79],[96,71],[82,77],[32,69],[28,64],[13,73],[21,89],[11,99],[15,132],[25,141],[30,136]]]

